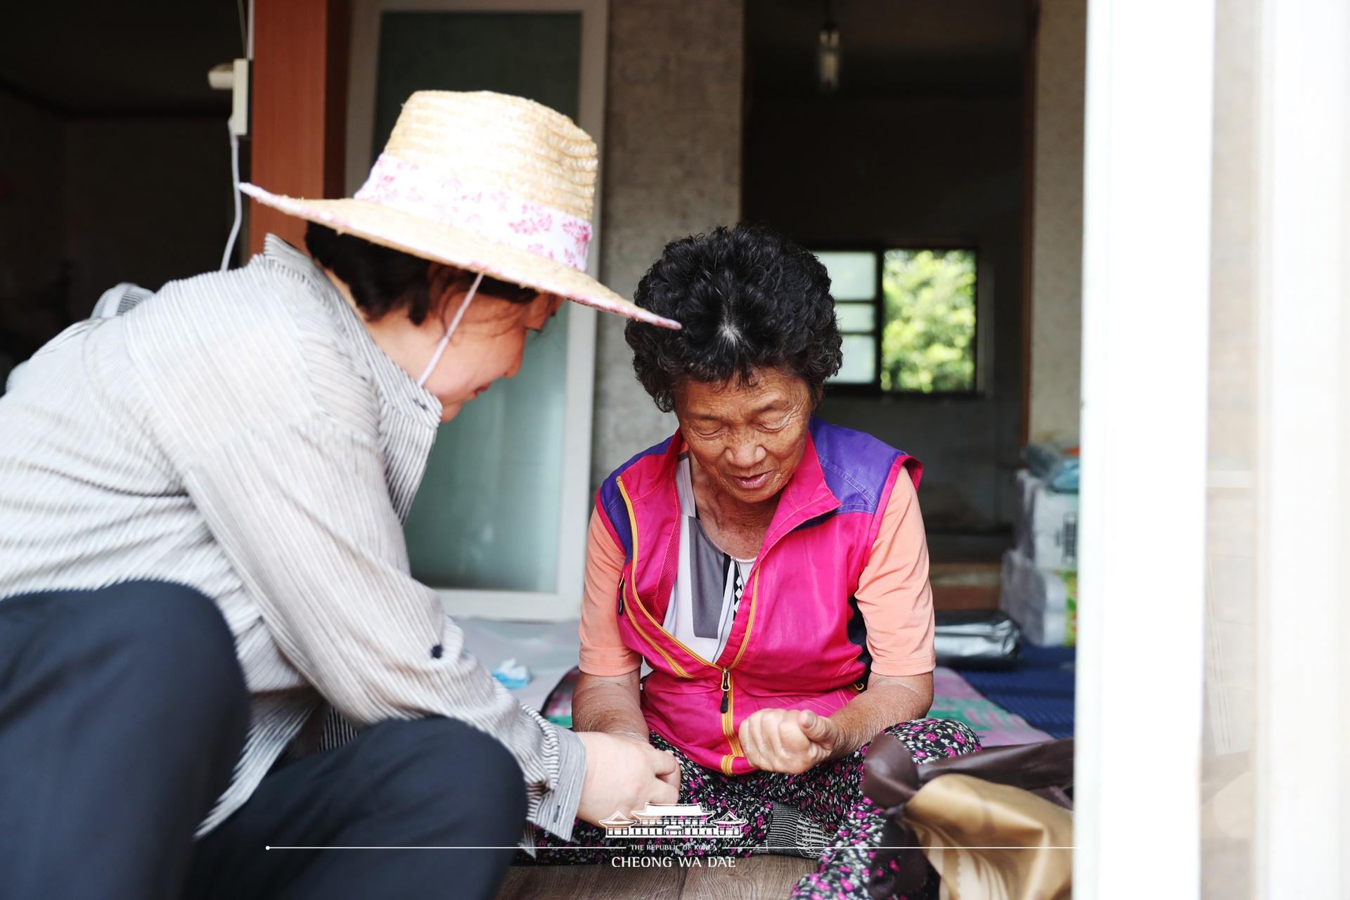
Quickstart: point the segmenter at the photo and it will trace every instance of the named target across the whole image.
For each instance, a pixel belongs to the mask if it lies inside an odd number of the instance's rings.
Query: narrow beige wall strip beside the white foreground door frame
[[[1087,0],[1041,0],[1035,58],[1030,440],[1079,434]]]

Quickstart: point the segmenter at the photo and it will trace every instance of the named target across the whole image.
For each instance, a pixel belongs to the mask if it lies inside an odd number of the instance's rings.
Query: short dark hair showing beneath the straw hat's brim
[[[383,318],[396,309],[406,309],[408,318],[421,325],[431,309],[431,262],[374,244],[355,235],[338,233],[332,228],[309,223],[305,247],[320,266],[347,282],[356,306],[370,320]],[[462,281],[473,281],[474,273],[460,270]],[[522,287],[489,275],[478,290],[513,304],[533,302],[541,291]]]

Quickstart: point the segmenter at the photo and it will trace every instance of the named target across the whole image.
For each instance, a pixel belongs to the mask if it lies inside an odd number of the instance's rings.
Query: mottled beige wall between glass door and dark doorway
[[[601,278],[632,297],[667,242],[740,213],[740,0],[610,5]],[[633,378],[624,321],[599,317],[591,482],[675,430]]]

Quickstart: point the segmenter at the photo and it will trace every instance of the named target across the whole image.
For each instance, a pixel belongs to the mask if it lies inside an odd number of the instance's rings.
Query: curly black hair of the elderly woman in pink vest
[[[749,383],[782,367],[806,382],[813,403],[840,370],[840,329],[830,277],[810,252],[778,232],[740,224],[666,244],[634,296],[683,331],[630,321],[633,371],[664,413],[687,378]]]

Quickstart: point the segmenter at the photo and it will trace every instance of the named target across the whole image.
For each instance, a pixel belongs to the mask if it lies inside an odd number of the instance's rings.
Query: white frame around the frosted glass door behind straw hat
[[[424,12],[579,12],[582,70],[578,125],[605,146],[605,73],[609,0],[352,0],[351,65],[347,88],[347,193],[355,193],[371,166],[378,72],[379,20],[387,11]],[[594,232],[587,271],[599,273],[601,181],[595,184]],[[572,304],[567,314],[567,410],[564,418],[562,502],[558,526],[558,578],[554,592],[439,592],[452,615],[498,619],[563,619],[580,613],[590,514],[591,405],[595,385],[595,310]]]

